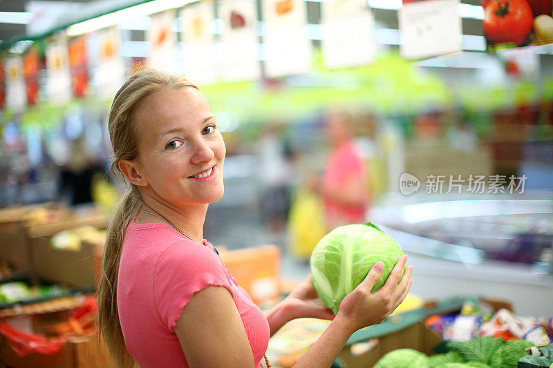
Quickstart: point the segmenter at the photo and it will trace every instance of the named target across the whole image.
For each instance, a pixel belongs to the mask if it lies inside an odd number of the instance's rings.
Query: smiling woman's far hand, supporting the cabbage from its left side
[[[288,308],[292,311],[294,318],[319,318],[321,320],[334,319],[334,313],[325,307],[317,297],[317,291],[311,282],[311,275],[303,280],[290,295],[285,299]]]

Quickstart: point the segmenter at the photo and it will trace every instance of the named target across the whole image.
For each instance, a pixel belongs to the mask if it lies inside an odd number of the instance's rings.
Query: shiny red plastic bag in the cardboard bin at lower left
[[[8,344],[18,356],[32,353],[54,355],[59,353],[67,343],[65,339],[48,339],[35,333],[19,331],[7,323],[0,323],[0,333],[8,340]]]

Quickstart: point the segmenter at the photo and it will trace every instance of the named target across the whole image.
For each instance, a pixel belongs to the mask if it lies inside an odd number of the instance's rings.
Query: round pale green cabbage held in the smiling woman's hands
[[[400,245],[374,224],[339,226],[319,240],[311,254],[311,280],[326,307],[338,312],[340,302],[359,285],[373,265],[384,263],[373,292],[384,285],[403,255]]]

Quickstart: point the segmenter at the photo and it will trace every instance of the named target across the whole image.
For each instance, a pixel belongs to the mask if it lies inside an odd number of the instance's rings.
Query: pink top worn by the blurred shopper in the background
[[[330,153],[322,184],[324,188],[340,188],[348,180],[362,180],[364,174],[361,152],[353,142],[346,142]],[[347,206],[328,197],[323,200],[326,220],[330,226],[364,222],[366,200],[355,206]]]

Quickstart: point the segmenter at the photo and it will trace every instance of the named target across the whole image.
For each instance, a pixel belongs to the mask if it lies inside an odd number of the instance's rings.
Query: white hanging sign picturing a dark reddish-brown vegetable
[[[256,35],[256,1],[220,1],[218,17],[223,19],[220,56],[223,80],[258,79],[261,64]]]

